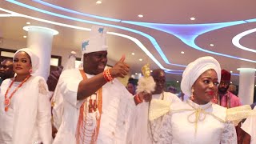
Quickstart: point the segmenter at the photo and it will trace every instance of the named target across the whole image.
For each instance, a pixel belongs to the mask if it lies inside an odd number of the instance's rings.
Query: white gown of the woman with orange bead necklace
[[[39,76],[31,76],[14,93],[6,112],[4,99],[11,82],[10,79],[6,79],[1,86],[0,143],[50,144],[52,142],[50,99],[47,97],[48,89],[45,80]],[[14,82],[8,97],[20,83]]]

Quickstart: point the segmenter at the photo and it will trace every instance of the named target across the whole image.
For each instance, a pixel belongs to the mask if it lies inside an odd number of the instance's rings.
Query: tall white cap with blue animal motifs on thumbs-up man
[[[89,40],[82,42],[82,54],[96,51],[105,51],[106,46],[106,27],[92,26]]]

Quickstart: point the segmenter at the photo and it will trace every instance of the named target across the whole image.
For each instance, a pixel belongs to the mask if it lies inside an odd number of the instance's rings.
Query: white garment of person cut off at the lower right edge
[[[256,106],[254,106],[256,110]],[[246,122],[242,123],[242,130],[247,134],[250,134],[250,144],[256,143],[256,115],[246,118]]]

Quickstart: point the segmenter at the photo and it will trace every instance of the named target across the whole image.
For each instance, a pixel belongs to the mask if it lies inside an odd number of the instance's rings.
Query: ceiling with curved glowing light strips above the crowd
[[[23,6],[15,4],[15,2],[19,2],[19,4],[22,3]],[[73,12],[65,11],[64,9],[58,10],[56,7],[45,6],[40,2],[61,6],[62,8],[65,8],[65,10],[69,9],[73,10]],[[31,10],[24,7],[24,5],[45,10],[44,12],[47,11],[46,13],[50,14]],[[18,42],[26,42],[26,38],[22,38],[23,35],[26,35],[26,31],[22,30],[22,27],[26,26],[26,22],[30,22],[33,26],[46,26],[58,30],[59,34],[54,36],[54,47],[79,51],[82,41],[89,38],[89,31],[40,22],[28,18],[27,16],[83,28],[90,28],[92,26],[92,24],[86,22],[86,20],[90,22],[102,22],[102,25],[110,25],[108,26],[109,32],[126,34],[138,39],[138,41],[146,47],[149,54],[152,54],[155,58],[155,61],[152,60],[152,56],[150,58],[150,56],[145,53],[145,50],[143,51],[130,39],[108,34],[107,44],[110,47],[108,57],[113,61],[118,61],[119,58],[122,57],[122,54],[126,54],[126,62],[130,64],[132,74],[140,72],[140,68],[146,64],[146,62],[150,62],[151,69],[158,68],[161,65],[170,70],[184,70],[184,66],[188,63],[194,61],[196,58],[206,55],[216,58],[221,63],[223,69],[232,70],[234,74],[239,74],[237,68],[256,67],[256,34],[247,34],[240,40],[242,46],[245,46],[252,51],[242,50],[237,46],[234,46],[232,38],[246,30],[256,28],[255,6],[255,0],[102,0],[102,4],[100,5],[97,5],[95,0],[9,0],[0,1],[0,16],[1,14],[12,14],[12,12],[24,14],[26,16],[0,17],[0,32],[2,32],[2,38],[12,39]],[[79,12],[79,14],[74,14],[74,11]],[[59,14],[61,16],[58,17],[51,14]],[[113,22],[87,17],[85,14],[114,18],[122,21]],[[144,17],[138,18],[138,14],[143,14]],[[191,17],[196,19],[191,21]],[[140,23],[136,25],[126,23],[126,21],[148,22],[151,26],[156,23],[159,25],[157,25],[157,27],[154,25],[154,28],[150,28],[148,27],[150,26],[148,23],[142,23],[141,26],[138,26]],[[210,30],[206,33],[200,33],[200,35],[196,33],[198,30],[209,28],[212,23],[221,22],[238,22],[238,24],[234,26],[226,26],[231,23],[226,23],[225,26],[219,24],[219,26],[223,27],[217,30]],[[160,24],[175,24],[175,26],[166,25],[166,30],[170,30],[170,33],[167,33],[162,31],[163,26],[160,27]],[[137,30],[137,33],[118,29],[116,26]],[[145,37],[142,34],[147,34],[148,37]],[[198,37],[195,40],[191,40],[192,36]],[[150,42],[150,37],[158,42],[159,47],[154,46],[152,40]],[[186,39],[186,41],[183,39],[184,42],[182,42],[182,38],[190,39]],[[193,42],[196,46],[193,45]],[[213,43],[214,46],[210,46],[210,43]],[[197,46],[202,48],[202,50],[211,51],[211,54],[195,49],[194,47]],[[167,61],[182,66],[174,66],[166,63],[157,48],[162,50],[162,54],[166,56]],[[185,54],[181,54],[181,51],[184,51]],[[131,53],[135,53],[135,55],[131,55]],[[229,56],[226,57],[219,54],[227,54]],[[140,62],[138,60],[139,58],[142,58],[143,61]],[[240,60],[241,58],[247,60]],[[159,64],[156,64],[156,61],[159,62]],[[167,74],[167,78],[169,80],[180,81],[181,75]],[[238,76],[232,76],[232,81],[235,84],[238,84]]]

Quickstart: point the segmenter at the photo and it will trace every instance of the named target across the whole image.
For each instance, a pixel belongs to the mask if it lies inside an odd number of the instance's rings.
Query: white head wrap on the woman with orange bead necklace
[[[24,48],[24,49],[17,50],[14,55],[16,55],[18,52],[21,52],[21,51],[24,51],[24,52],[26,52],[26,54],[29,54],[30,60],[31,60],[31,63],[32,63],[32,73],[31,74],[34,74],[34,72],[36,70],[38,70],[38,66],[39,66],[38,55],[36,55],[34,53],[34,51],[29,49],[29,48]]]

